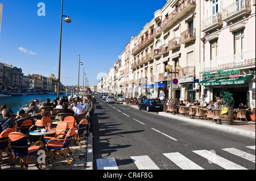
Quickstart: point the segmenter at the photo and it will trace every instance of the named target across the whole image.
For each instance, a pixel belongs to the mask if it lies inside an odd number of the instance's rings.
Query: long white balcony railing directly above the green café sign
[[[200,63],[200,73],[239,68],[255,68],[255,49]]]

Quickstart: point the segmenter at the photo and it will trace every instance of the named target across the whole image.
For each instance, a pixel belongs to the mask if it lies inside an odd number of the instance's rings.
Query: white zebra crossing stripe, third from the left
[[[190,159],[184,157],[184,155],[176,153],[163,153],[164,156],[169,158],[177,166],[183,170],[204,170],[202,167],[192,162]]]

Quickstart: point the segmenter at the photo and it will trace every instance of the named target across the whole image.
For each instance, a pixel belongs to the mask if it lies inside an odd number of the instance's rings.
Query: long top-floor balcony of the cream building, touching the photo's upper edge
[[[166,31],[170,28],[174,22],[181,19],[183,16],[187,15],[188,12],[193,10],[196,7],[196,0],[182,0],[181,3],[176,7],[174,11],[171,12],[170,15],[163,20],[160,24],[161,31]]]

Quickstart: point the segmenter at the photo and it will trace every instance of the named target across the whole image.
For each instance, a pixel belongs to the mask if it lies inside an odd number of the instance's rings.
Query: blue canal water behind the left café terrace
[[[67,94],[69,96],[70,94]],[[60,98],[63,96],[66,96],[66,94],[60,94]],[[6,96],[6,97],[0,97],[0,106],[2,104],[6,104],[7,108],[10,108],[13,110],[13,113],[16,113],[22,108],[22,106],[26,106],[30,104],[32,100],[38,99],[39,103],[42,103],[46,101],[47,98],[53,102],[54,99],[56,99],[57,94],[35,94],[35,95],[20,95],[20,96]],[[1,120],[2,118],[0,118]]]

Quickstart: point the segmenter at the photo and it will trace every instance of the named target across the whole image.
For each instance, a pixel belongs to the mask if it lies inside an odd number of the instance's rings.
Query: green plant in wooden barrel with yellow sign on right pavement
[[[220,92],[220,96],[223,102],[223,107],[220,113],[221,124],[231,125],[234,119],[233,107],[234,104],[233,94],[225,91]]]

